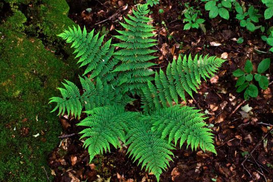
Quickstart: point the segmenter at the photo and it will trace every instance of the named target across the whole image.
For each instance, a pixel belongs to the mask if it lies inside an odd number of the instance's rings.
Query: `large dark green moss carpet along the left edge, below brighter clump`
[[[47,181],[43,167],[52,177],[47,155],[61,132],[48,99],[59,94],[60,81],[74,77],[75,65],[56,58],[41,40],[20,33],[22,13],[8,20],[0,26],[0,181]],[[12,25],[14,21],[19,23]]]

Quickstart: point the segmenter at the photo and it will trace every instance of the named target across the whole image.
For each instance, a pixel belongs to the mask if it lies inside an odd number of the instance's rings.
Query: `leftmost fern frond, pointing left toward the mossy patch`
[[[67,112],[79,118],[83,108],[91,110],[110,103],[124,105],[133,101],[128,96],[115,96],[111,85],[102,82],[100,78],[96,79],[96,85],[90,78],[79,78],[84,91],[83,94],[80,95],[79,88],[74,83],[66,80],[67,83],[63,83],[65,88],[58,88],[61,91],[62,98],[50,98],[49,103],[57,103],[52,112],[59,109],[58,115],[64,115]]]

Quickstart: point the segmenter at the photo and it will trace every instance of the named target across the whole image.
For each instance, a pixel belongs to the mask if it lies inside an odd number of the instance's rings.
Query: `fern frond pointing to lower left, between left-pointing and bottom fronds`
[[[139,115],[137,112],[125,112],[121,105],[96,107],[86,113],[89,116],[77,125],[87,127],[80,132],[83,134],[80,139],[87,138],[83,146],[88,149],[89,162],[95,155],[110,151],[110,145],[120,147],[119,139],[125,143],[124,130],[128,130],[128,121]]]

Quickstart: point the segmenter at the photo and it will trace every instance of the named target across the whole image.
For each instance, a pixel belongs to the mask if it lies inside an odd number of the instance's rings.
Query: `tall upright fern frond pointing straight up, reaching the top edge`
[[[155,28],[147,24],[151,22],[151,19],[146,17],[149,11],[147,4],[139,5],[137,10],[132,10],[132,16],[124,17],[125,23],[120,23],[126,30],[117,30],[121,35],[114,36],[121,40],[120,43],[113,44],[121,48],[114,53],[114,57],[121,63],[113,72],[121,72],[115,86],[122,92],[134,92],[153,80],[150,75],[154,74],[154,71],[149,68],[155,64],[148,61],[157,57],[149,55],[156,52],[149,48],[156,45],[154,42],[157,40],[150,38],[154,36],[152,31]]]

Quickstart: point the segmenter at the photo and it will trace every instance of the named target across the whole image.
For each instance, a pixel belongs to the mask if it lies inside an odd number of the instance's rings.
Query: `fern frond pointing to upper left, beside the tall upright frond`
[[[114,53],[111,39],[103,44],[104,35],[99,37],[99,34],[95,35],[94,29],[87,33],[85,27],[81,30],[78,26],[73,29],[69,27],[68,30],[58,35],[67,43],[73,42],[71,47],[75,49],[75,58],[80,58],[77,63],[80,63],[80,67],[87,66],[83,75],[91,73],[91,78],[100,74]]]

